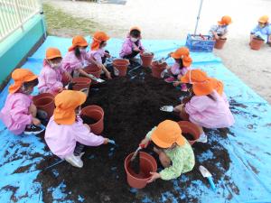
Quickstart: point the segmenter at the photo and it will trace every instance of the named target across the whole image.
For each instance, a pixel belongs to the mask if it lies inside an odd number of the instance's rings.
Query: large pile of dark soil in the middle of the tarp
[[[135,77],[131,79],[131,76]],[[130,152],[135,152],[138,143],[155,125],[165,119],[180,120],[178,115],[162,112],[159,108],[164,105],[177,105],[178,98],[182,96],[180,90],[162,79],[152,78],[146,69],[137,69],[131,76],[114,78],[105,85],[92,88],[85,104],[85,106],[98,105],[104,109],[103,135],[114,139],[117,146],[107,144],[86,147],[82,169],[72,167],[64,161],[54,166],[53,170],[42,171],[38,181],[42,182],[44,202],[52,202],[50,188],[59,186],[61,182],[66,185],[66,191],[71,191],[67,192],[65,199],[75,202],[78,202],[79,196],[83,197],[85,202],[142,202],[145,197],[154,202],[162,202],[161,195],[166,191],[171,192],[178,202],[198,202],[197,197],[192,197],[187,188],[193,185],[193,180],[201,180],[210,187],[208,181],[204,180],[198,171],[200,164],[210,170],[215,183],[224,178],[224,172],[229,170],[229,153],[218,142],[223,138],[217,131],[209,143],[193,145],[196,157],[208,150],[213,153],[213,157],[201,162],[196,161],[193,171],[185,174],[186,181],[178,179],[177,184],[182,189],[182,194],[173,188],[173,181],[156,180],[137,192],[127,185],[124,169],[126,156]],[[152,153],[152,146],[145,151]],[[153,155],[155,157],[154,153]],[[50,165],[54,159],[47,158],[41,163],[42,168]],[[59,174],[55,175],[53,171],[58,171]],[[181,198],[183,195],[185,199]],[[166,202],[172,200],[168,199]]]

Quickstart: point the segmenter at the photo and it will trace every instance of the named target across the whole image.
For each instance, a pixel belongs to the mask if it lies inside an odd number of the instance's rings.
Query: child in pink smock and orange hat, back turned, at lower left
[[[47,125],[45,141],[51,152],[72,166],[83,167],[81,161],[83,145],[98,146],[108,143],[108,139],[92,134],[89,125],[84,125],[79,117],[79,106],[87,96],[79,91],[63,90],[55,97],[53,115]]]

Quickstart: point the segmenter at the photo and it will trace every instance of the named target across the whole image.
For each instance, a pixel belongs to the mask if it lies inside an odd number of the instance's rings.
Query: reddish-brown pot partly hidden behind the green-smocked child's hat
[[[182,134],[191,134],[193,136],[193,140],[188,140],[191,145],[200,138],[201,132],[197,125],[194,125],[189,121],[179,121],[178,125],[180,125],[182,129]]]

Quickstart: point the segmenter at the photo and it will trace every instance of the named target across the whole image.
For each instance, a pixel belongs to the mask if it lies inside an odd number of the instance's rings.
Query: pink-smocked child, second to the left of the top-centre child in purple
[[[62,67],[70,74],[73,73],[73,77],[79,77],[82,74],[85,77],[90,78],[89,74],[84,71],[89,62],[99,65],[95,60],[89,58],[86,49],[88,42],[82,36],[75,36],[72,39],[72,46],[69,48],[69,52],[62,60]]]

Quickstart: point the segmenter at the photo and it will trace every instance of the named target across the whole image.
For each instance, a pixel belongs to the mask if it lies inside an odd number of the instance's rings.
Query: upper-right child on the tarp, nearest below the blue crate
[[[170,54],[175,60],[172,67],[167,67],[167,71],[172,75],[170,78],[164,79],[166,82],[173,82],[176,79],[180,79],[192,64],[192,58],[189,55],[189,49],[182,47]],[[181,85],[182,91],[187,91],[185,84]]]

